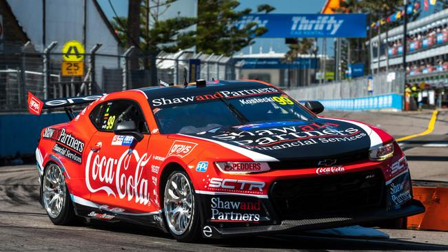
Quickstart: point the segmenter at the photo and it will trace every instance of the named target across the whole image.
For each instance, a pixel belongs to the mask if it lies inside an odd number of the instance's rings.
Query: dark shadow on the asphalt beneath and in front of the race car
[[[170,235],[159,229],[132,225],[127,223],[103,223],[94,221],[88,224],[92,229],[100,229],[114,233],[129,233],[143,235],[150,242],[150,238],[163,239],[164,242],[176,242]],[[207,249],[219,251],[227,249],[294,249],[294,250],[409,250],[409,251],[448,251],[448,246],[423,242],[412,242],[399,239],[354,239],[322,237],[316,235],[278,234],[245,238],[227,238],[222,240],[201,240],[198,244],[185,244],[185,247],[207,246]]]

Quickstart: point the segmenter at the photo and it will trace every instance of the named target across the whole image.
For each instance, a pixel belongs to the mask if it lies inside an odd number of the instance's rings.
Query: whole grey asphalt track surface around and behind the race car
[[[383,127],[396,138],[424,132],[430,118],[430,112],[405,115],[332,112],[326,115],[365,120]],[[435,176],[448,181],[448,160],[444,159],[448,156],[448,147],[423,146],[434,141],[448,142],[447,133],[448,114],[442,112],[434,132],[403,145],[404,149],[408,148],[409,157],[417,157],[409,160],[413,178]],[[428,174],[427,165],[436,167],[436,171]],[[157,229],[130,224],[91,222],[72,227],[55,226],[38,198],[34,165],[0,167],[0,251],[448,251],[448,232],[391,229],[380,229],[389,239],[292,233],[185,244]]]

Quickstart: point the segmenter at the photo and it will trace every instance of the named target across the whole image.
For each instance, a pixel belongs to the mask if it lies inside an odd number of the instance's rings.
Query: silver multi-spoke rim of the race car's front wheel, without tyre
[[[192,220],[194,198],[190,182],[181,173],[170,177],[165,186],[165,217],[170,230],[176,235],[187,231]]]

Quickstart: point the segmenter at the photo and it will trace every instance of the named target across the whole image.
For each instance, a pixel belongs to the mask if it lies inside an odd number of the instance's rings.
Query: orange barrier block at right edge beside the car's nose
[[[414,198],[426,207],[425,213],[407,218],[407,228],[448,231],[448,187],[412,187]]]

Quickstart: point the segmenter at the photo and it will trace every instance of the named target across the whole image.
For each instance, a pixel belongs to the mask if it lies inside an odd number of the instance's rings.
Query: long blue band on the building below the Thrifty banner
[[[318,61],[314,58],[299,58],[291,63],[284,59],[244,59],[243,69],[316,69]]]

